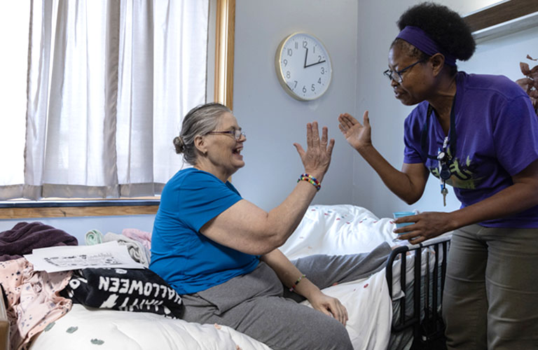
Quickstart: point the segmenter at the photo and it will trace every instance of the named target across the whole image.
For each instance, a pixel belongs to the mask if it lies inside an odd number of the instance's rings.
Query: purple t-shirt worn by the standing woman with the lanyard
[[[422,150],[427,109],[428,102],[421,102],[406,118],[403,162],[423,163],[439,178],[439,162],[425,151],[436,156],[446,135],[432,112]],[[446,183],[453,186],[463,208],[511,186],[511,176],[538,159],[538,118],[527,94],[509,78],[462,71],[456,76],[454,110],[456,150],[450,150],[454,161]],[[538,206],[481,225],[538,228]]]

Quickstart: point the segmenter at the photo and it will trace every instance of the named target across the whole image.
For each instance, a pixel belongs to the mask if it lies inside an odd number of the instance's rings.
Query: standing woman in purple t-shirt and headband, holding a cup
[[[429,172],[462,202],[396,223],[413,244],[454,230],[443,293],[449,349],[538,349],[538,120],[529,97],[504,76],[457,71],[475,49],[467,24],[434,3],[409,8],[385,76],[405,121],[401,171],[363,123],[340,115],[347,142],[404,202],[417,202]],[[440,195],[440,200],[441,200]]]

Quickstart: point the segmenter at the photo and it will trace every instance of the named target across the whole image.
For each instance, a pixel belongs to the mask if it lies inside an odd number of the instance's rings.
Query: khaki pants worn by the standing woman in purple
[[[538,349],[538,229],[453,234],[443,293],[448,349]]]

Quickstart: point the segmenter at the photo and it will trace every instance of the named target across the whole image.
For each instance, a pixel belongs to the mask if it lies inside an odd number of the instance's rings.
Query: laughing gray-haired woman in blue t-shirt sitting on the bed
[[[266,212],[228,181],[244,166],[246,141],[232,112],[205,104],[186,115],[174,145],[193,167],[163,189],[150,265],[181,294],[185,320],[228,325],[273,350],[352,349],[345,307],[320,288],[382,269],[389,245],[294,262],[278,249],[321,187],[334,145],[327,134],[324,127],[319,137],[317,123],[307,125],[307,150],[294,144],[305,172],[284,202]],[[305,298],[313,309],[298,304]]]

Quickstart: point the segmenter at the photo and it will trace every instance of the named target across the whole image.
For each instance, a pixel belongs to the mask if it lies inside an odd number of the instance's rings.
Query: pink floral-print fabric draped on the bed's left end
[[[58,295],[69,279],[71,271],[34,271],[34,265],[25,258],[0,262],[11,349],[24,349],[34,335],[71,309],[71,300]]]

